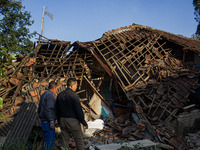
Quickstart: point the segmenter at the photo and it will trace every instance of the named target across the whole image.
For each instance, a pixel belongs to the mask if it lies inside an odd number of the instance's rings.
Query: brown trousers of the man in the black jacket
[[[80,122],[74,118],[60,118],[62,144],[69,147],[70,134],[72,134],[77,150],[84,150],[84,141]]]

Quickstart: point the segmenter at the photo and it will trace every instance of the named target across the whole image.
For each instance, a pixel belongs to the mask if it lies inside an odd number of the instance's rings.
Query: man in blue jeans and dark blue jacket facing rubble
[[[49,89],[40,96],[38,113],[41,119],[44,144],[42,150],[52,150],[55,141],[57,83],[51,81]]]

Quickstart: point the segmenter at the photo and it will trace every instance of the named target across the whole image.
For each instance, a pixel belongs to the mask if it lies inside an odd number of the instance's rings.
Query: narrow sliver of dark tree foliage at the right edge
[[[198,22],[197,30],[196,30],[196,38],[200,38],[200,0],[193,0],[193,6],[194,6],[194,14],[195,14],[195,20]]]

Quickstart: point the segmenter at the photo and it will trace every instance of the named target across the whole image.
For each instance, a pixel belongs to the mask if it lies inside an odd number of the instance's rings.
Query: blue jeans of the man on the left
[[[55,140],[55,129],[50,129],[50,122],[41,120],[42,131],[44,133],[44,144],[42,150],[52,150]]]

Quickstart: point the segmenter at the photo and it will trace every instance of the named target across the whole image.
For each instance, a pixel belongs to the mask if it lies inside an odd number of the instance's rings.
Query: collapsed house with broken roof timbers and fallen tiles
[[[199,52],[199,40],[137,24],[90,42],[43,38],[32,53],[18,56],[16,69],[9,67],[0,83],[2,114],[6,118],[17,112],[14,119],[1,119],[1,143],[27,139],[33,126],[40,125],[36,109],[48,83],[58,82],[60,92],[74,77],[87,120],[103,116],[114,129],[96,135],[109,132],[113,141],[118,136],[150,139],[187,149],[184,128],[200,113],[194,111],[190,120],[181,115],[199,103],[200,72],[194,67],[200,62]]]

